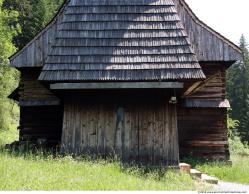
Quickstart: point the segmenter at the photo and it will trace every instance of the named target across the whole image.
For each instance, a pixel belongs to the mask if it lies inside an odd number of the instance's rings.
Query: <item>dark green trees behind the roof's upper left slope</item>
[[[52,19],[63,0],[5,0],[4,7],[19,12],[18,23],[22,31],[15,37],[18,48],[24,47]]]

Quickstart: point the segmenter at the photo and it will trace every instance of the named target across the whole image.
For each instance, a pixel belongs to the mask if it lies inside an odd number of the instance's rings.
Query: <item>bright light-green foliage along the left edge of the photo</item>
[[[10,129],[18,120],[18,108],[7,96],[18,85],[19,74],[10,68],[8,57],[16,51],[12,39],[20,32],[18,13],[2,9],[0,0],[0,130]]]

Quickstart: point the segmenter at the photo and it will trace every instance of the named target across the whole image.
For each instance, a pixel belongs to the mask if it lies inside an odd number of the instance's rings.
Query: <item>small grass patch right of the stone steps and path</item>
[[[232,155],[232,165],[222,162],[191,162],[196,169],[222,181],[249,185],[249,156]]]

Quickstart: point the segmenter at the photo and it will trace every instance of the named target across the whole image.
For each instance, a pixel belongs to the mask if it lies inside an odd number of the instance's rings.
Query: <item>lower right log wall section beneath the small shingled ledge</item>
[[[194,108],[178,110],[180,156],[229,159],[227,110]]]

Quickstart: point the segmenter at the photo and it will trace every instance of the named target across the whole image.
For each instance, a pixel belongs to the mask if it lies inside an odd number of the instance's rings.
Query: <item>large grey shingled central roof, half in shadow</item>
[[[43,81],[203,79],[172,0],[71,0]]]

